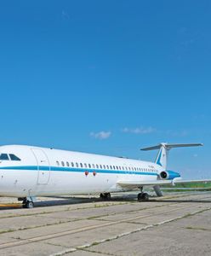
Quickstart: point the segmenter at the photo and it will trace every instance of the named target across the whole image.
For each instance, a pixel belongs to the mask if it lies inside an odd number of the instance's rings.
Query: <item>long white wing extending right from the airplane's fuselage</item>
[[[156,181],[134,181],[134,180],[120,180],[117,184],[123,188],[140,188],[144,186],[154,187],[154,186],[162,186],[165,184],[184,184],[184,183],[208,183],[211,182],[211,179],[196,179],[196,180],[185,180],[185,179],[175,179],[175,180],[156,180]]]

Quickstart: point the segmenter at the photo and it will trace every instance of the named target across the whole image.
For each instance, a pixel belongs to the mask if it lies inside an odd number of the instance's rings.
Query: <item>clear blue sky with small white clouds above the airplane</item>
[[[1,144],[154,160],[210,177],[210,1],[0,3]]]

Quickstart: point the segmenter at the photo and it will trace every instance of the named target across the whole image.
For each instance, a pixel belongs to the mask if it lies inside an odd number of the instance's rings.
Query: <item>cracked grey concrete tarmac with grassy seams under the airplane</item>
[[[0,198],[0,255],[210,255],[211,193]]]

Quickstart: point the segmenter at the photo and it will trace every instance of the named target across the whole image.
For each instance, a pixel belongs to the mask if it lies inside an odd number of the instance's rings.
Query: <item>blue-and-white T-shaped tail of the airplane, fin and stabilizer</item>
[[[168,151],[171,148],[182,148],[182,147],[197,147],[202,146],[201,143],[194,143],[194,144],[168,144],[168,143],[160,143],[157,146],[153,146],[150,148],[141,148],[141,150],[154,150],[154,149],[160,149],[157,154],[156,163],[159,166],[163,166],[164,169],[167,168],[167,160],[168,160]]]

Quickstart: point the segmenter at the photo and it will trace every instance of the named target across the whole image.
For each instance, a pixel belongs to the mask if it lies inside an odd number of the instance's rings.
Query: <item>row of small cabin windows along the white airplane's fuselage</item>
[[[108,166],[108,165],[94,165],[94,164],[86,164],[86,163],[69,163],[66,161],[59,162],[56,161],[57,166],[67,166],[67,167],[80,167],[80,168],[96,168],[96,169],[107,169],[107,170],[123,170],[123,171],[140,171],[140,172],[157,172],[157,170],[149,169],[149,168],[140,168],[140,167],[128,167],[128,166]]]

